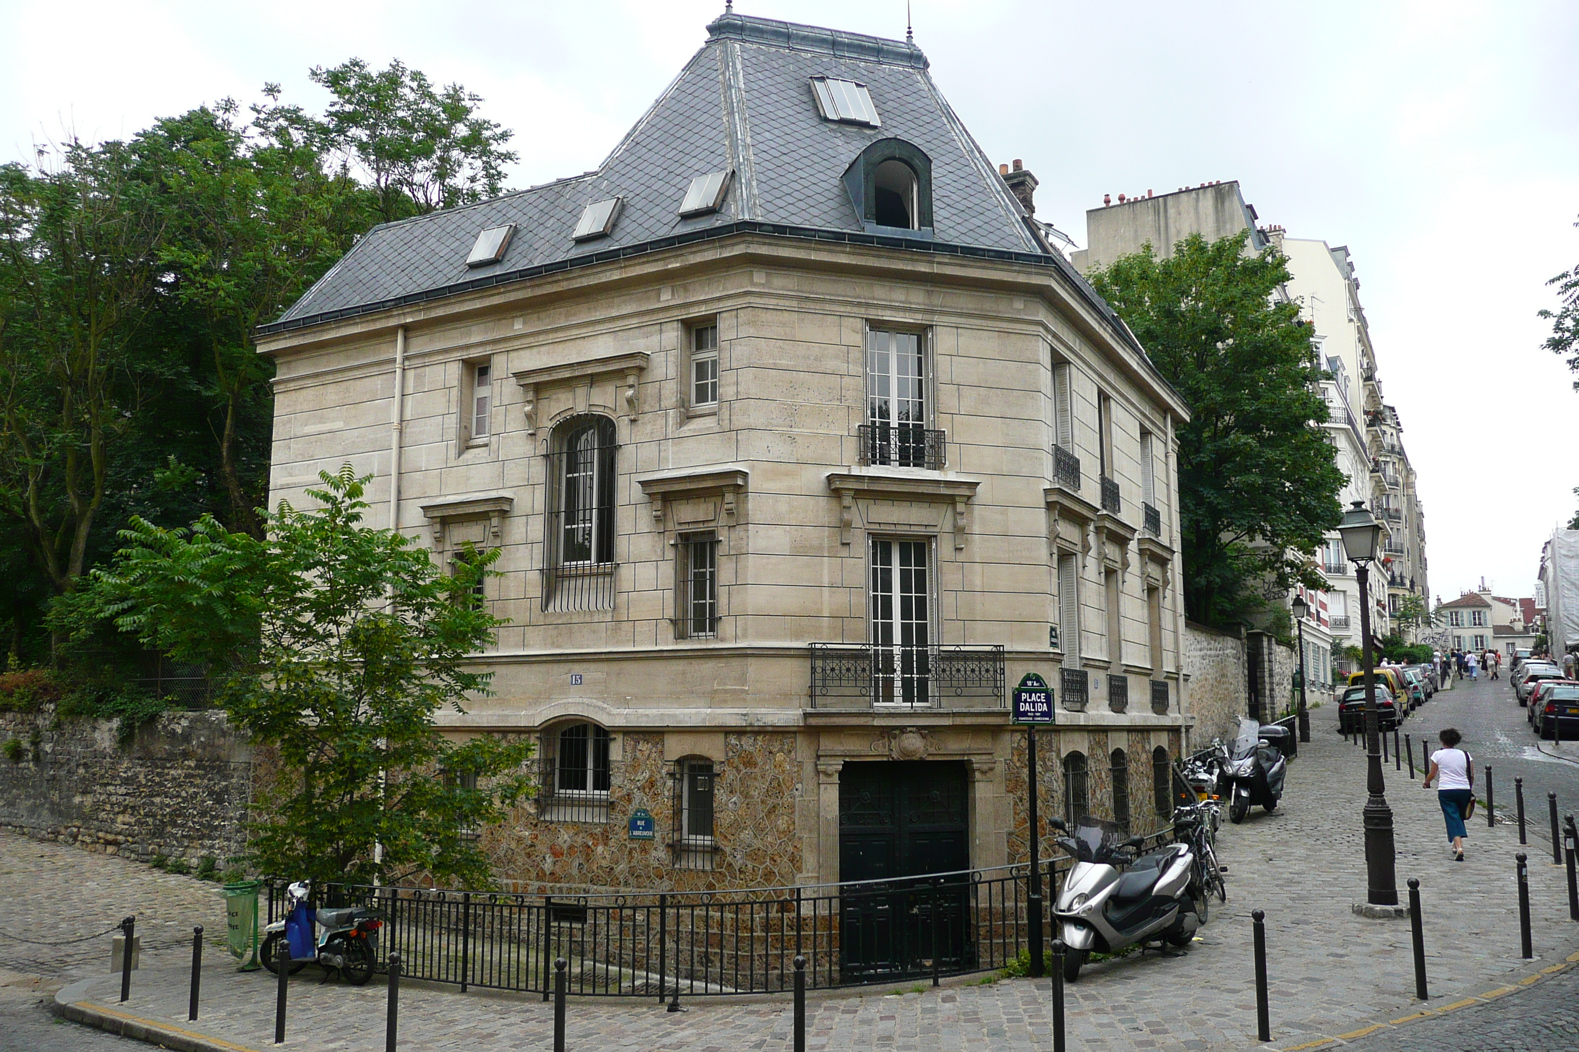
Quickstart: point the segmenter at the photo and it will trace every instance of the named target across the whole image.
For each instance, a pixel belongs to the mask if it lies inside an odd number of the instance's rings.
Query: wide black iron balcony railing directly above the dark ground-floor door
[[[812,708],[1004,708],[1003,647],[812,644]]]

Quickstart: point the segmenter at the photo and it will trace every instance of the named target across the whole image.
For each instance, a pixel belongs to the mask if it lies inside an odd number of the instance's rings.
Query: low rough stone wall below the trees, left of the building
[[[245,842],[253,796],[253,749],[224,713],[166,713],[136,740],[115,740],[117,721],[57,721],[0,713],[0,738],[28,743],[27,757],[0,759],[0,828],[46,841],[150,860],[182,858],[219,869]]]

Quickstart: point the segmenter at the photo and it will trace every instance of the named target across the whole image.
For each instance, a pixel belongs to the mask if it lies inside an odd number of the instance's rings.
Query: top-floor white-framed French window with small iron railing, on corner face
[[[862,459],[894,467],[943,467],[927,435],[925,341],[921,333],[867,331],[867,423]]]

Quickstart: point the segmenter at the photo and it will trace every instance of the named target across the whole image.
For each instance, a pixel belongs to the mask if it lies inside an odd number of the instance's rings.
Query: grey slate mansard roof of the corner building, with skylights
[[[276,333],[469,289],[617,259],[688,240],[758,230],[1044,263],[1116,328],[1107,304],[1041,241],[996,169],[949,109],[927,57],[891,41],[725,14],[707,43],[595,170],[464,208],[369,230],[286,314]],[[880,126],[827,121],[810,79],[865,84]],[[932,161],[932,240],[865,232],[843,175],[867,145],[903,139]],[[690,180],[734,170],[718,211],[682,219]],[[624,197],[608,237],[576,243],[583,208]],[[515,224],[504,257],[467,268],[480,230]]]

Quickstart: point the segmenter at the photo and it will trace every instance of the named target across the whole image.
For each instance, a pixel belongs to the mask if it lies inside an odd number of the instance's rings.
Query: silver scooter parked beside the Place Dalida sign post
[[[1116,953],[1146,942],[1189,945],[1205,913],[1192,897],[1195,855],[1189,845],[1168,844],[1137,858],[1145,837],[1120,839],[1124,831],[1113,822],[1085,817],[1074,833],[1063,819],[1047,825],[1063,833],[1058,847],[1075,860],[1053,904],[1067,946],[1066,983],[1080,978],[1093,951]]]

